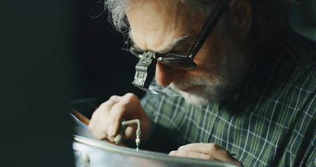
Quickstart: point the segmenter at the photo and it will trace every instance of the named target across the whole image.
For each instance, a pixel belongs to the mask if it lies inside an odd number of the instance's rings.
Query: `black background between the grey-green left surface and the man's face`
[[[144,95],[143,90],[131,84],[138,58],[121,49],[124,35],[107,21],[108,11],[103,6],[103,1],[87,0],[78,0],[76,5],[80,62],[80,90],[76,100],[81,104],[74,108],[88,118],[111,95]]]

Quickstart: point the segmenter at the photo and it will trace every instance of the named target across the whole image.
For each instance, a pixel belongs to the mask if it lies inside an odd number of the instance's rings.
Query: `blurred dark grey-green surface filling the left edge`
[[[0,1],[0,166],[74,166],[76,2]]]

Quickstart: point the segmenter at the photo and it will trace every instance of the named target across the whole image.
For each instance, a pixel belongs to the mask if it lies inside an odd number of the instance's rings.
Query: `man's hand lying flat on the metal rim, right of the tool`
[[[178,150],[169,152],[169,155],[195,159],[226,161],[242,166],[242,163],[235,159],[227,150],[214,143],[192,143],[183,145],[178,148]]]

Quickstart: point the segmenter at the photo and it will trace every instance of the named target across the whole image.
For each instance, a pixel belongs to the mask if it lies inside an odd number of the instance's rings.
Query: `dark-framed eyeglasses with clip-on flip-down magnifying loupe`
[[[174,70],[194,70],[197,67],[197,64],[194,63],[194,56],[197,55],[197,52],[203,46],[204,42],[208,38],[208,35],[215,28],[219,17],[222,15],[225,5],[222,4],[222,7],[216,13],[215,17],[208,17],[206,24],[204,24],[203,29],[199,33],[197,40],[194,42],[194,45],[188,49],[188,54],[175,54],[172,52],[167,52],[163,54],[156,53],[155,51],[138,51],[131,45],[131,40],[127,38],[122,46],[123,50],[128,51],[128,53],[133,54],[137,58],[140,58],[138,64],[135,67],[136,73],[133,81],[133,85],[145,90],[149,93],[156,93],[162,95],[172,95],[178,96],[178,93],[174,93],[168,88],[163,88],[159,86],[151,86],[150,80],[147,79],[147,68],[151,65],[152,61],[157,61],[165,67],[174,69]]]

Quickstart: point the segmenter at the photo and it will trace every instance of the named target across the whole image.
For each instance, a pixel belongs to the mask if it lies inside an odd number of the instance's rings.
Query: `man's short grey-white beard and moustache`
[[[215,65],[219,74],[211,72],[201,77],[189,77],[172,82],[170,87],[176,90],[188,104],[207,105],[214,102],[226,100],[238,87],[247,72],[249,63],[235,43],[228,35],[221,34],[222,55],[218,63],[213,60],[206,62],[206,65]],[[184,88],[197,86],[189,92],[183,92]]]

